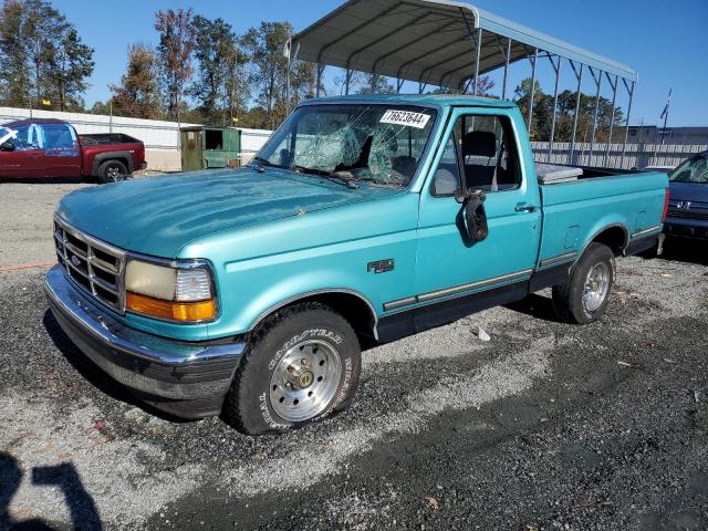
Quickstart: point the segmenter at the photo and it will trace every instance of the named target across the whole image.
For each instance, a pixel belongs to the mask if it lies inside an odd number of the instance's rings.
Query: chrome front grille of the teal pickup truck
[[[56,259],[66,274],[98,301],[123,313],[125,251],[54,218]]]

